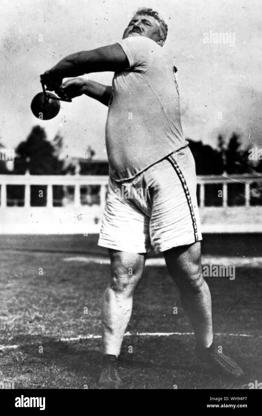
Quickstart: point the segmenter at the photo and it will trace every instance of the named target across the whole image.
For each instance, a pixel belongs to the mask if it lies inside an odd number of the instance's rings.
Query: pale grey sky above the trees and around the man
[[[178,68],[185,137],[216,147],[218,134],[228,140],[236,131],[243,147],[262,147],[260,0],[1,0],[0,143],[15,149],[39,124],[49,140],[64,136],[69,157],[83,157],[91,146],[95,158],[106,159],[106,106],[77,97],[43,121],[30,104],[42,91],[40,74],[71,53],[122,39],[139,7],[167,22],[164,48]],[[219,33],[228,33],[227,43],[215,43]],[[89,78],[110,85],[113,73]]]

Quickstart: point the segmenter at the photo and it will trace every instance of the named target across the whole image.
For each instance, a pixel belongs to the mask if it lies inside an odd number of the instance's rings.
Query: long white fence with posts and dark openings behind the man
[[[259,173],[198,176],[197,182],[204,233],[262,232],[262,176]],[[108,176],[0,175],[0,233],[98,233],[107,183]],[[236,198],[228,192],[231,184],[242,187],[235,193]],[[12,196],[9,188],[17,185],[22,186],[22,197],[18,198]],[[37,186],[39,191],[45,189],[44,206],[33,206],[31,186]],[[63,190],[59,203],[54,198],[55,186]]]

